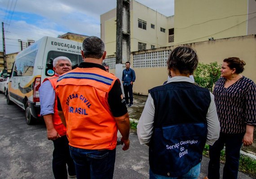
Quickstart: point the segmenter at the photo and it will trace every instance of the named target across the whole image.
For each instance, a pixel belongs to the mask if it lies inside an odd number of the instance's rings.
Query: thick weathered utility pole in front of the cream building
[[[116,4],[115,76],[121,81],[123,64],[130,61],[131,54],[130,0],[117,0]]]

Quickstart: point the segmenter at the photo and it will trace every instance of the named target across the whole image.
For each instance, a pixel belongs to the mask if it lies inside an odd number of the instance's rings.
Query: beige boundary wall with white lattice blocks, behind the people
[[[239,57],[246,62],[242,75],[254,82],[256,81],[256,35],[222,38],[213,41],[207,40],[185,45],[190,45],[197,51],[199,63],[210,64],[217,62],[222,64],[225,58]],[[133,83],[134,93],[147,95],[149,89],[163,85],[163,82],[168,78],[166,60],[170,51],[177,46],[132,53],[132,68],[136,73],[136,81]],[[106,61],[109,62],[108,58]],[[113,61],[115,63],[115,60]],[[113,63],[110,62],[110,66]],[[115,69],[110,69],[110,72],[115,74]]]

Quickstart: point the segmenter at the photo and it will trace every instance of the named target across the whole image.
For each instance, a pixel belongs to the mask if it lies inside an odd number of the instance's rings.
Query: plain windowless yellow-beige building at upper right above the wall
[[[175,0],[174,44],[256,34],[255,0]]]

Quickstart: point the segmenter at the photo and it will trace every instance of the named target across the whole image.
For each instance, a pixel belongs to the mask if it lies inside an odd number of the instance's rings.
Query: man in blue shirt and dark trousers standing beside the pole
[[[125,98],[126,105],[128,105],[128,107],[133,106],[132,86],[136,78],[135,72],[132,68],[130,68],[130,66],[131,66],[130,62],[125,63],[126,68],[123,70],[123,75],[122,75],[122,83],[124,87],[124,98]]]

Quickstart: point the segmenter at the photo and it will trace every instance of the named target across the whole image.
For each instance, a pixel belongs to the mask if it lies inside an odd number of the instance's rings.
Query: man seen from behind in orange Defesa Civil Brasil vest
[[[129,115],[119,79],[102,66],[103,41],[85,38],[81,54],[84,62],[58,78],[58,110],[66,122],[77,179],[112,179],[117,129],[123,150],[130,145]]]

